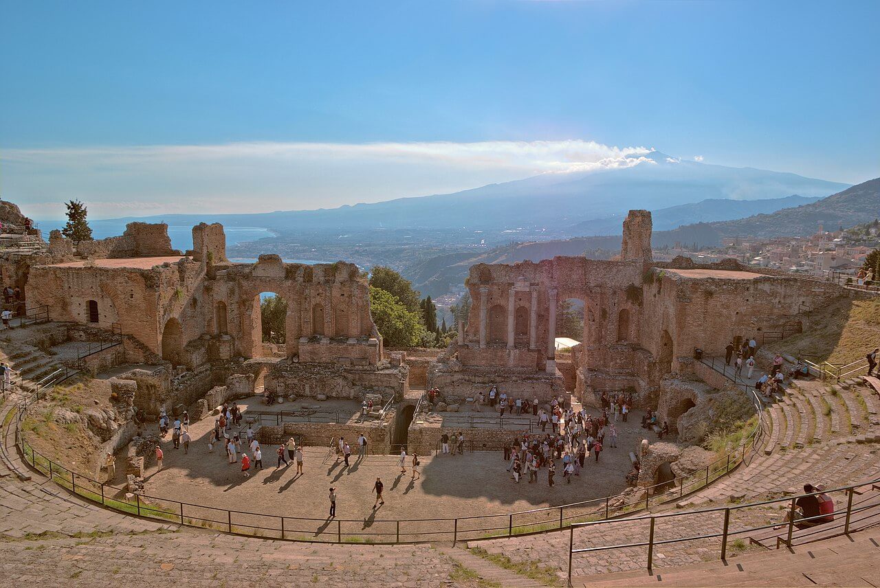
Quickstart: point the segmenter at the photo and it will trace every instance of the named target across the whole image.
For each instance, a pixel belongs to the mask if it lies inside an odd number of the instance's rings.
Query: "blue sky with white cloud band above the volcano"
[[[0,193],[38,218],[331,207],[639,148],[857,183],[880,175],[877,22],[880,2],[0,0]]]

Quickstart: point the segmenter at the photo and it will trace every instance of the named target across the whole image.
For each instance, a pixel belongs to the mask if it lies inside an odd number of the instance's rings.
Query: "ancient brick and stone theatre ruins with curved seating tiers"
[[[0,578],[7,584],[128,586],[145,577],[212,587],[880,584],[880,380],[864,366],[844,377],[818,367],[815,377],[790,381],[762,400],[752,381],[712,356],[723,352],[728,332],[752,332],[757,311],[761,324],[783,335],[795,326],[809,330],[817,319],[803,309],[849,295],[840,287],[738,265],[654,264],[650,216],[634,211],[621,260],[474,266],[468,287],[478,303],[467,327],[440,357],[407,364],[405,352],[383,350],[356,267],[283,264],[277,256],[229,264],[219,225],[195,227],[194,250],[180,255],[165,229],[140,224],[87,251],[55,236],[49,250],[0,258],[4,277],[22,280],[28,296],[45,302],[37,307],[45,310],[22,313],[0,345],[0,359],[22,375],[4,390],[0,410]],[[254,335],[255,296],[268,287],[296,304],[282,349]],[[568,359],[555,354],[554,316],[557,297],[571,296],[585,301],[589,318],[583,344]],[[741,315],[739,301],[749,297],[755,312]],[[339,432],[364,432],[385,454],[407,439],[428,452],[436,445],[444,410],[426,405],[428,386],[465,397],[488,381],[511,391],[527,382],[541,400],[559,395],[563,403],[594,407],[603,392],[630,389],[641,406],[669,418],[678,439],[701,439],[700,422],[712,418],[719,397],[744,401],[740,406],[757,408],[759,417],[732,449],[725,446],[724,457],[705,465],[705,478],[701,465],[671,485],[658,483],[658,448],[670,444],[646,437],[630,453],[642,464],[634,488],[604,507],[550,505],[540,512],[551,519],[515,524],[510,515],[509,526],[507,515],[491,514],[502,522],[482,534],[455,519],[451,533],[438,527],[421,542],[391,536],[371,545],[370,537],[341,531],[335,540],[323,532],[314,541],[289,536],[284,517],[277,537],[253,536],[234,526],[231,514],[228,526],[200,528],[182,506],[178,517],[157,505],[142,510],[150,503],[137,494],[134,503],[119,495],[105,501],[105,490],[117,489],[92,483],[97,476],[68,483],[73,466],[64,461],[53,470],[37,459],[19,417],[71,373],[105,378],[114,404],[84,412],[112,429],[100,439],[101,454],[128,451],[128,466],[141,476],[149,455],[137,455],[132,441],[141,433],[131,419],[136,409],[147,420],[159,408],[176,414],[180,406],[207,415],[204,409],[258,388],[321,402],[375,397],[389,408],[372,425],[291,425],[279,417],[258,435],[269,443],[324,432],[326,447]],[[510,439],[503,428],[468,434],[481,442]],[[70,449],[63,432],[54,440],[62,455]],[[479,480],[485,472],[466,475]],[[833,522],[803,530],[783,523],[804,482],[825,486]]]

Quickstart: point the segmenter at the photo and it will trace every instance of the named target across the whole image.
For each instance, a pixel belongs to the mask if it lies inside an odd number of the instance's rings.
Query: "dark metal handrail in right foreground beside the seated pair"
[[[627,519],[595,520],[595,521],[589,521],[589,522],[584,522],[584,523],[572,523],[569,526],[569,534],[568,534],[568,584],[567,585],[568,586],[572,585],[571,584],[571,570],[572,570],[573,556],[576,554],[590,553],[593,551],[605,551],[608,549],[647,547],[648,548],[648,565],[647,565],[647,567],[648,567],[648,570],[652,570],[654,547],[656,547],[658,545],[668,545],[671,543],[680,543],[680,542],[684,542],[684,541],[700,541],[700,540],[704,540],[704,539],[714,539],[716,537],[721,537],[722,538],[722,545],[721,545],[721,558],[720,559],[722,561],[726,561],[727,541],[728,541],[728,538],[730,537],[730,535],[754,533],[756,531],[762,531],[762,530],[765,530],[765,529],[768,529],[771,527],[776,528],[776,527],[780,526],[779,523],[774,523],[771,525],[752,526],[752,527],[748,527],[748,528],[744,528],[744,529],[737,529],[734,531],[730,531],[730,512],[734,512],[734,511],[745,509],[745,508],[754,508],[754,507],[760,507],[760,506],[766,506],[766,505],[774,505],[774,504],[778,504],[778,503],[782,503],[782,502],[789,503],[790,504],[789,520],[787,523],[782,524],[783,526],[786,526],[788,528],[788,530],[786,532],[787,539],[781,540],[783,543],[785,543],[788,546],[788,548],[791,548],[791,546],[792,546],[792,534],[793,534],[796,522],[801,523],[803,521],[810,521],[810,520],[819,520],[819,519],[824,520],[829,515],[846,514],[846,519],[845,519],[845,523],[843,526],[843,533],[842,534],[848,535],[849,530],[850,530],[850,525],[852,523],[853,513],[863,512],[863,511],[867,511],[867,510],[875,509],[875,508],[880,508],[880,503],[877,503],[874,505],[865,505],[865,506],[853,508],[854,494],[862,494],[862,492],[859,492],[858,489],[862,488],[864,486],[871,486],[872,490],[880,490],[880,487],[877,486],[878,483],[880,483],[880,478],[876,478],[874,480],[869,480],[867,482],[855,483],[855,484],[851,484],[849,486],[843,486],[843,487],[832,489],[832,490],[815,491],[815,492],[801,494],[796,497],[773,498],[770,500],[763,500],[760,502],[749,503],[747,505],[716,506],[714,508],[697,509],[697,510],[687,511],[687,512],[664,512],[664,513],[660,513],[660,514],[629,517]],[[822,514],[819,514],[814,517],[807,517],[807,518],[796,520],[796,517],[794,516],[794,514],[796,511],[796,502],[797,502],[798,498],[818,496],[819,494],[831,494],[833,492],[846,492],[847,493],[847,508],[846,509],[834,510],[833,512],[830,512],[830,513],[822,513]],[[673,539],[665,539],[665,540],[655,540],[655,538],[654,538],[655,537],[656,519],[673,519],[673,518],[684,517],[684,516],[703,515],[703,514],[707,514],[707,513],[711,513],[711,512],[724,512],[722,530],[720,532],[699,534],[699,535],[693,535],[693,536],[688,536],[688,537],[676,537]],[[578,529],[589,528],[591,526],[598,526],[598,525],[631,524],[635,521],[642,521],[642,520],[649,521],[649,539],[648,539],[648,541],[634,541],[631,543],[620,543],[620,544],[615,544],[615,545],[600,545],[598,547],[590,547],[590,548],[575,548],[574,547],[574,545],[575,545],[575,531]],[[828,521],[829,525],[831,523],[832,523],[832,521]],[[814,528],[816,528],[817,532],[818,532],[818,531],[823,531],[823,530],[827,530],[828,528],[834,528],[834,527],[833,526],[825,526],[825,528],[823,529],[822,526],[816,526]],[[808,535],[809,534],[804,534],[804,536],[808,536]]]

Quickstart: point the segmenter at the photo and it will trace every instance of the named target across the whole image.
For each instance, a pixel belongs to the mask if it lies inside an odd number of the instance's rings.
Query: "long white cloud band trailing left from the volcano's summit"
[[[642,163],[651,149],[572,141],[237,142],[6,149],[4,198],[38,218],[78,198],[97,217],[336,207],[540,173]]]

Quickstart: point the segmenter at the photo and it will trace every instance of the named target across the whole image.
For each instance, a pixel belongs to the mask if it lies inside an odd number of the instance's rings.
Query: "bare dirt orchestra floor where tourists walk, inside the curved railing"
[[[190,426],[194,440],[188,454],[172,447],[170,435],[166,438],[165,469],[157,473],[155,462],[150,461],[145,492],[194,505],[308,518],[326,515],[328,489],[333,486],[338,494],[337,516],[360,518],[371,515],[374,496],[370,490],[380,476],[385,483],[385,506],[375,516],[381,519],[524,511],[606,497],[623,490],[624,475],[631,469],[628,454],[646,433],[638,423],[636,414],[626,425],[619,423],[617,448],[606,446],[598,463],[590,457],[572,483],[564,482],[559,468],[555,485],[549,488],[546,469],[539,472],[538,483],[514,483],[505,471],[508,463],[500,451],[422,456],[421,478],[414,481],[408,460],[404,475],[397,456],[367,455],[358,459],[355,450],[346,468],[334,458],[324,462],[326,447],[306,448],[304,474],[296,475],[292,464],[275,468],[277,447],[265,446],[264,468],[252,468],[252,475],[246,478],[241,474],[240,454],[239,462],[233,464],[221,447],[209,453],[208,435],[214,419],[205,418]],[[253,457],[249,449],[245,453]]]

